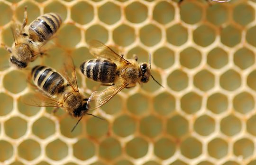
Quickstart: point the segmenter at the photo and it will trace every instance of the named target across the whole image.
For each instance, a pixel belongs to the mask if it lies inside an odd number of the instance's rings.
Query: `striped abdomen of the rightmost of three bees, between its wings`
[[[88,78],[103,83],[114,82],[117,65],[107,59],[91,59],[80,66],[82,74]]]

